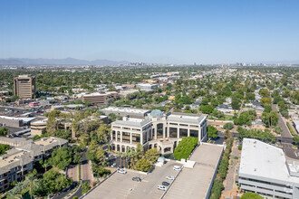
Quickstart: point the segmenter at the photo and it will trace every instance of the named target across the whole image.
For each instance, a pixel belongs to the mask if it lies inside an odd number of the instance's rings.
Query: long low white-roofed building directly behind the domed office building
[[[117,116],[129,116],[130,118],[145,118],[150,113],[150,109],[132,109],[124,107],[108,107],[101,109],[101,111],[107,116],[113,113]]]

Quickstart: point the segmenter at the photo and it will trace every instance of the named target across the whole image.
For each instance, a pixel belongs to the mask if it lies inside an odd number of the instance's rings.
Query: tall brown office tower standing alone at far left
[[[14,95],[20,99],[32,99],[35,94],[35,77],[31,75],[19,75],[14,78]]]

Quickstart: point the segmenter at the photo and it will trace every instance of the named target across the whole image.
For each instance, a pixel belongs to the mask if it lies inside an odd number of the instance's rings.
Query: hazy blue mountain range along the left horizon
[[[74,58],[65,59],[28,59],[28,58],[9,58],[0,59],[0,65],[119,65],[130,63],[127,61],[111,60],[79,60]]]

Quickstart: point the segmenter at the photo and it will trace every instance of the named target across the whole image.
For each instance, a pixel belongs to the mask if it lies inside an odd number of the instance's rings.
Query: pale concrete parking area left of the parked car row
[[[105,182],[96,187],[85,198],[159,198],[164,191],[159,190],[158,185],[162,182],[171,183],[166,176],[176,176],[178,171],[173,166],[180,166],[175,162],[167,162],[164,166],[156,166],[149,175],[140,174],[136,171],[127,171],[127,174],[115,173]],[[140,177],[141,182],[132,181],[132,177]]]

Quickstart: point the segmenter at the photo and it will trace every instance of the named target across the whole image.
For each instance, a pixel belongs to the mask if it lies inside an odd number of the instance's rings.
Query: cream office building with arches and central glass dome
[[[158,148],[162,154],[173,153],[183,137],[207,139],[207,117],[203,115],[169,113],[158,109],[145,118],[124,117],[111,124],[111,147],[125,152],[141,144],[144,149]]]

